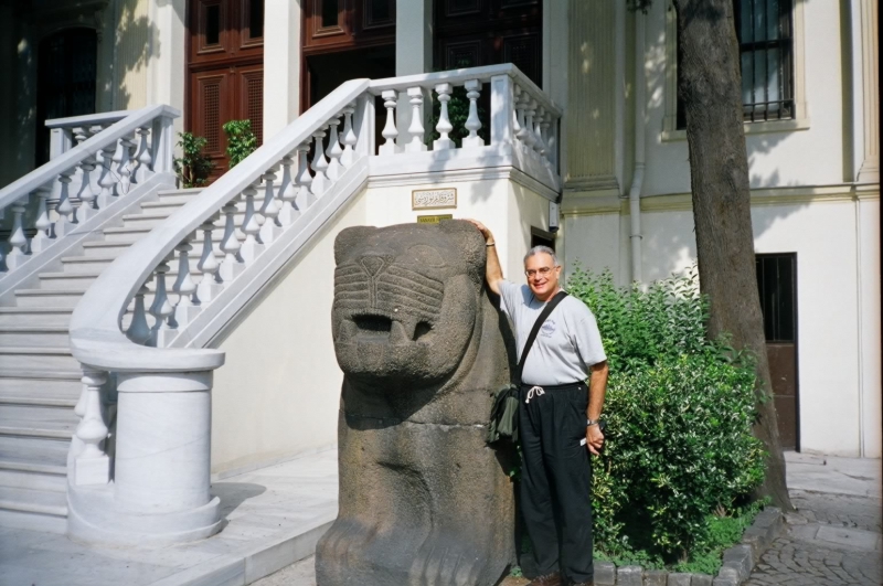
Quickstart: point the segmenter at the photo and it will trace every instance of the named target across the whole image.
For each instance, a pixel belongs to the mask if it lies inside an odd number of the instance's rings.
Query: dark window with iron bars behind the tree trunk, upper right
[[[791,0],[733,0],[745,121],[794,118]],[[680,51],[678,71],[680,71]],[[678,97],[678,128],[687,120]]]

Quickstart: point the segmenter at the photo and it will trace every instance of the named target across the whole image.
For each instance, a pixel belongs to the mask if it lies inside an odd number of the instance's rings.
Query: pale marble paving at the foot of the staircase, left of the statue
[[[89,547],[0,528],[0,586],[247,584],[310,555],[337,516],[337,466],[327,450],[214,482],[227,524],[194,543]]]

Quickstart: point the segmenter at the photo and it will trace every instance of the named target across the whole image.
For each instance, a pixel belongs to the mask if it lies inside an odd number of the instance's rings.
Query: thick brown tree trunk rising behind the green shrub
[[[769,452],[758,491],[789,511],[755,273],[733,0],[674,0],[674,4],[681,57],[678,92],[687,117],[699,277],[711,300],[709,334],[728,333],[734,348],[757,359],[759,420],[754,435]]]

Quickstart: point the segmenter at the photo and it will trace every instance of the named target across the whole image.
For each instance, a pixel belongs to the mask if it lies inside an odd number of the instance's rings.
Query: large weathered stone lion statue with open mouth
[[[461,221],[351,227],[334,255],[340,511],[317,584],[497,584],[514,561],[511,455],[485,435],[513,350],[483,238]]]

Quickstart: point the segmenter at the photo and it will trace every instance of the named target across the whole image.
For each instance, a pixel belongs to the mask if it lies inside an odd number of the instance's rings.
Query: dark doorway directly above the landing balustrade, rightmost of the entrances
[[[542,86],[541,0],[435,0],[436,70],[513,63]]]

